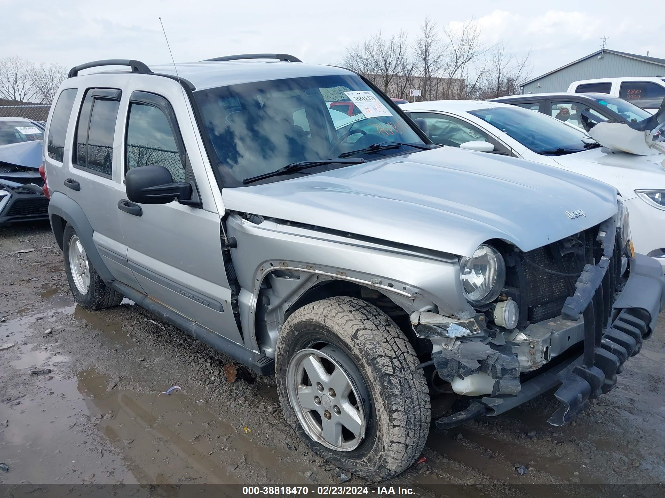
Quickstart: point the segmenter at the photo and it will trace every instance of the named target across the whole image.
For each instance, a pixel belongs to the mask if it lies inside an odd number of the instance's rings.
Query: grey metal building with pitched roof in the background
[[[578,80],[620,76],[663,76],[665,59],[616,50],[598,50],[520,85],[523,94],[565,92]]]

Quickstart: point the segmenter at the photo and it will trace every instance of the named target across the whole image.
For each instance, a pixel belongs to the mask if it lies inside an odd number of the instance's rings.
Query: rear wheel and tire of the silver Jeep
[[[66,224],[63,232],[63,256],[69,288],[76,302],[86,309],[104,309],[117,306],[124,297],[106,285],[76,235],[76,230]]]

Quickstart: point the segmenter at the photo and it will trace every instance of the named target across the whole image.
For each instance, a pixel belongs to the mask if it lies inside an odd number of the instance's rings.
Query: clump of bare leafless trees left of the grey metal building
[[[406,31],[391,37],[379,31],[348,47],[339,65],[363,74],[391,97],[406,98],[408,88],[418,88],[424,100],[515,94],[530,74],[530,52],[511,54],[501,42],[487,46],[475,19],[440,32],[426,17],[408,48]]]

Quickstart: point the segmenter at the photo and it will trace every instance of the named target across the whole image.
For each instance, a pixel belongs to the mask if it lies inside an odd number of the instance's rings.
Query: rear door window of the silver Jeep
[[[108,177],[112,175],[113,139],[119,107],[120,90],[88,89],[76,125],[75,165]]]

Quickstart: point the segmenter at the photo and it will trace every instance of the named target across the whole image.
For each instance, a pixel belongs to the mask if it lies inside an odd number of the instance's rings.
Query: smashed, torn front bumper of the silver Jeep
[[[531,324],[507,339],[500,334],[492,338],[479,317],[456,321],[467,328],[463,337],[446,337],[450,325],[418,325],[416,333],[434,344],[432,361],[439,376],[458,394],[471,396],[466,410],[438,419],[438,428],[502,414],[556,386],[561,407],[548,422],[562,426],[589,400],[612,389],[624,362],[640,351],[656,325],[665,301],[665,278],[660,264],[636,254],[628,262],[625,285],[608,306],[612,301],[603,291],[603,284],[610,288],[607,263],[601,259],[585,266],[561,317]],[[606,326],[603,313],[610,315]],[[442,332],[438,337],[437,328]],[[469,391],[460,392],[460,386]]]

